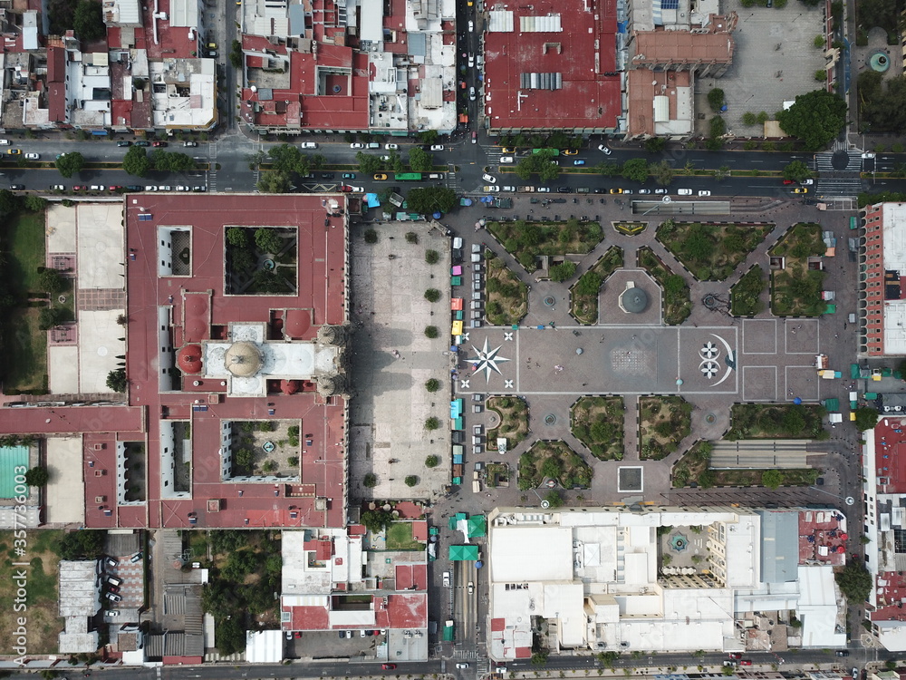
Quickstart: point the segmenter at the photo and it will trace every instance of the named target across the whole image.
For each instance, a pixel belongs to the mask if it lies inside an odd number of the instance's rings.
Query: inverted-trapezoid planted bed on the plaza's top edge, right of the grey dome
[[[666,219],[657,238],[699,281],[723,281],[774,229],[773,224],[700,224]]]

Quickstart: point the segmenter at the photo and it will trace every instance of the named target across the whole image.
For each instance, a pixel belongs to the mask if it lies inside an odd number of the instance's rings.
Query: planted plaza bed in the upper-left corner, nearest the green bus
[[[529,273],[537,268],[535,257],[563,257],[566,253],[592,252],[602,239],[601,225],[568,219],[565,222],[488,222],[487,230],[516,257]]]

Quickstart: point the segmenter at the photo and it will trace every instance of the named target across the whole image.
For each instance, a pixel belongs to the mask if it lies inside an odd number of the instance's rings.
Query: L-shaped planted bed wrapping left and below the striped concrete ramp
[[[811,486],[821,474],[813,468],[795,468],[790,470],[712,470],[711,442],[695,442],[688,452],[673,466],[672,487],[698,486],[701,489],[711,487],[766,486],[776,489],[781,486]]]

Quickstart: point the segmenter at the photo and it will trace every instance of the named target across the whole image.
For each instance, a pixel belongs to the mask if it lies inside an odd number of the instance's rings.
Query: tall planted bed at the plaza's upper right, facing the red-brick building
[[[796,224],[768,255],[771,258],[771,311],[776,316],[821,316],[826,247],[817,224]]]

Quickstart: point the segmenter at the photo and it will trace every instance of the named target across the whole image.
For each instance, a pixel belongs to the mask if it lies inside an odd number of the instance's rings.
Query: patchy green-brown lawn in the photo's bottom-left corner
[[[63,531],[41,529],[27,533],[25,555],[18,556],[14,552],[13,531],[0,531],[0,597],[6,603],[5,615],[0,617],[0,640],[5,641],[0,646],[0,653],[12,655],[14,631],[16,628],[15,617],[26,617],[28,654],[53,654],[57,649],[57,635],[63,630],[63,618],[57,616],[57,603],[59,600],[59,560],[57,546],[63,536]],[[26,588],[25,612],[13,611],[13,602],[16,597],[16,584],[13,574],[22,567],[14,567],[13,562],[28,562],[24,569],[27,572],[28,583]]]

